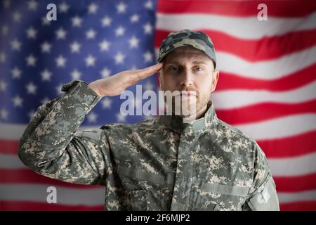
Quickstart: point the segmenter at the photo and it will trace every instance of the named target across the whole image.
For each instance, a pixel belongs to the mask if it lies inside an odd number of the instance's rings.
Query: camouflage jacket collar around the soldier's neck
[[[209,103],[207,103],[207,110],[204,117],[193,120],[192,122],[183,122],[183,117],[180,117],[180,115],[160,115],[158,120],[173,131],[181,133],[183,129],[189,127],[195,131],[208,129],[212,126],[216,118],[213,102],[209,101]]]

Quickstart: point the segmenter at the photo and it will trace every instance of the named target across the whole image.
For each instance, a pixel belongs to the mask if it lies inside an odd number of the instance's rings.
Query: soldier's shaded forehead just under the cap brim
[[[173,50],[166,56],[166,62],[170,60],[202,60],[208,62],[211,60],[203,51],[192,47],[180,47]]]

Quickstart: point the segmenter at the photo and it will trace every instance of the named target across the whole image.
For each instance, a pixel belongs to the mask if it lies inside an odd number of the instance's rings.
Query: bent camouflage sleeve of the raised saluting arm
[[[20,160],[34,172],[76,184],[104,185],[109,163],[103,129],[77,131],[100,101],[88,84],[74,80],[65,94],[39,106],[19,143]]]

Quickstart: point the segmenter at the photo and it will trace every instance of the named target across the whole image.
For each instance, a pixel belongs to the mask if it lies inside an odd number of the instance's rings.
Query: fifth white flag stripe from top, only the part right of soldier
[[[294,158],[268,158],[273,176],[299,176],[316,172],[316,153]]]

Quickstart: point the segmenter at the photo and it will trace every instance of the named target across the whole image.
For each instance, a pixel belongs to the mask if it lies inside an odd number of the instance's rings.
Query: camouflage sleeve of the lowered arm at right
[[[257,143],[255,143],[254,153],[254,181],[243,210],[279,211],[275,181],[267,158]]]

